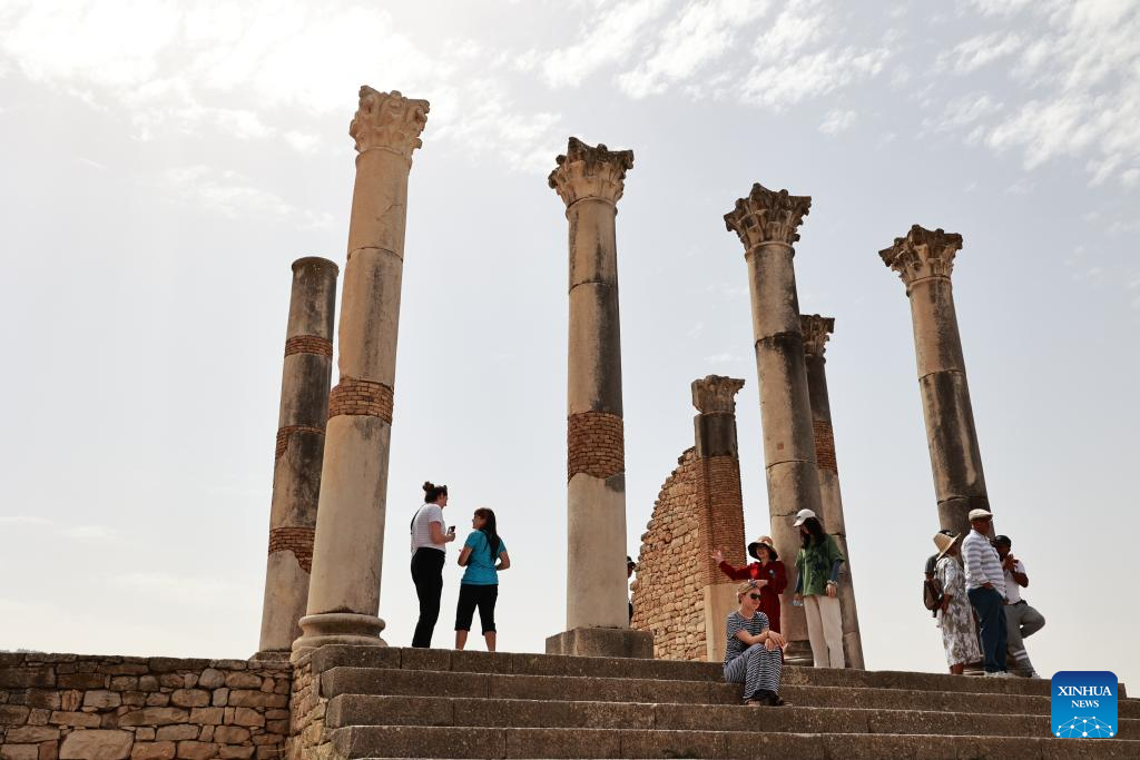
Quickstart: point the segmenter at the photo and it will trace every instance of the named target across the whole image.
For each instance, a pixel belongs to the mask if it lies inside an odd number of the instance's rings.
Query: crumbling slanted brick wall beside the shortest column
[[[633,627],[653,634],[653,656],[705,660],[705,563],[700,556],[701,460],[677,459],[642,534],[634,583]]]

